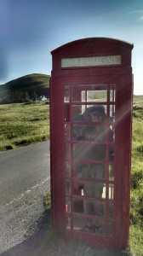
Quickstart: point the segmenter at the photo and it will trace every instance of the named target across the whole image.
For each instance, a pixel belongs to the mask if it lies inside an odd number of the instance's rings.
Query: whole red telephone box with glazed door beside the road
[[[129,240],[132,49],[112,38],[85,38],[51,53],[54,228],[105,246]]]

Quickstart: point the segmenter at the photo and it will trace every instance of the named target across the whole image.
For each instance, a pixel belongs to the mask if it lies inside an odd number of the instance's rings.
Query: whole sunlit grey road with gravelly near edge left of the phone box
[[[49,142],[0,154],[0,253],[34,232],[48,191]]]

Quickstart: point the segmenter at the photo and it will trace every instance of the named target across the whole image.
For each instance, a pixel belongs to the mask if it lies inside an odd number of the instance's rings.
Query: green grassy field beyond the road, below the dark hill
[[[49,139],[49,105],[0,105],[0,151]]]

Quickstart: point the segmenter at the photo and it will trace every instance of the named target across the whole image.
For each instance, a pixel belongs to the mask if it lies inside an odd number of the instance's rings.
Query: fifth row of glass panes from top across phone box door
[[[114,181],[114,165],[66,161],[66,177]]]

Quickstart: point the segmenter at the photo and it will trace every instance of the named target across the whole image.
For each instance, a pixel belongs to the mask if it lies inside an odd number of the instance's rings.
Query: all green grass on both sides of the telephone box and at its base
[[[44,102],[0,105],[0,151],[19,148],[47,139],[49,139],[49,105]],[[143,96],[134,96],[130,239],[129,248],[122,255],[143,256],[142,224]],[[77,250],[75,255],[102,255],[92,254],[91,250],[84,245],[80,246],[80,250],[79,247],[78,249],[76,247],[75,250]],[[116,256],[118,254],[112,251],[106,255]]]

